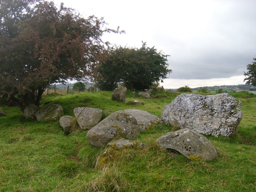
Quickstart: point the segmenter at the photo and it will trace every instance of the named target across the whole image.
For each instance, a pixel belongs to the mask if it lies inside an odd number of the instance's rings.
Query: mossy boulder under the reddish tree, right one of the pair
[[[42,121],[59,120],[63,116],[63,108],[58,104],[48,104],[36,112],[36,119]]]

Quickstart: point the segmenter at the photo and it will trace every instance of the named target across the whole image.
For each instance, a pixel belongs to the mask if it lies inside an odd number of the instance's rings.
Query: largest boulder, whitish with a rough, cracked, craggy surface
[[[160,121],[180,128],[189,128],[206,135],[236,133],[242,119],[241,101],[227,93],[197,95],[183,93],[164,107]]]

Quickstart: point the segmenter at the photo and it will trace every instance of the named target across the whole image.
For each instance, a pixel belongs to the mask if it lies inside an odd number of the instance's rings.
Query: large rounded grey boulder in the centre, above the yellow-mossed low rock
[[[113,138],[133,139],[139,135],[139,131],[134,116],[125,111],[116,111],[91,128],[86,136],[95,147],[103,147]]]

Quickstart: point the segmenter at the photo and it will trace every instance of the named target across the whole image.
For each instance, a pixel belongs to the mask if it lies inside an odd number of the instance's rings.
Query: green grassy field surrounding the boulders
[[[112,92],[70,95],[44,95],[41,104],[57,103],[64,115],[76,107],[95,107],[112,112],[128,108],[160,116],[165,105],[177,95],[171,92],[139,100],[145,105],[127,105],[111,100]],[[91,146],[87,132],[65,135],[58,122],[22,119],[18,107],[0,106],[7,116],[0,117],[0,191],[1,192],[83,192],[83,191],[256,191],[256,96],[233,93],[242,101],[243,119],[233,138],[207,136],[216,147],[215,162],[188,161],[184,156],[162,151],[156,139],[174,128],[156,126],[138,137],[147,147],[126,149],[120,159],[105,168],[94,169],[104,149]],[[159,95],[162,96],[162,95]],[[127,101],[137,98],[131,92]]]

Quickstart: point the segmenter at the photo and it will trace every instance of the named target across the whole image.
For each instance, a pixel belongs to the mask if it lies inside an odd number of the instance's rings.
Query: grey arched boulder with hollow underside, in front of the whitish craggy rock
[[[180,129],[159,137],[157,142],[161,148],[178,151],[188,159],[214,161],[217,151],[211,142],[203,135],[190,129]]]

